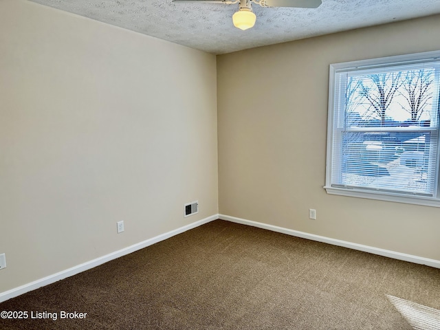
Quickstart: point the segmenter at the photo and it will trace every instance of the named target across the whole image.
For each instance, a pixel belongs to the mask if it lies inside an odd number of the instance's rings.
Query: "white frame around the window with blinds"
[[[401,64],[417,64],[417,63],[429,63],[440,61],[440,51],[423,52],[417,54],[388,56],[383,58],[373,58],[362,61],[352,61],[346,63],[336,63],[330,65],[329,72],[329,112],[328,112],[328,124],[327,124],[327,164],[326,164],[326,183],[325,190],[331,195],[342,195],[349,197],[360,197],[366,199],[377,199],[382,201],[395,201],[399,203],[410,203],[423,206],[440,207],[440,150],[437,150],[437,171],[436,171],[436,192],[434,197],[423,195],[408,195],[399,192],[384,192],[379,190],[366,190],[362,188],[352,187],[336,187],[332,186],[332,156],[333,156],[333,125],[335,124],[335,112],[336,112],[336,98],[338,94],[336,74],[337,72],[351,72],[354,70],[373,69],[377,67],[383,67],[386,71],[386,67],[393,67]],[[435,96],[439,97],[439,96]],[[435,101],[439,106],[439,100]],[[435,103],[434,103],[435,104]],[[439,120],[439,118],[437,118]],[[336,129],[336,128],[335,128]],[[440,149],[440,132],[437,135],[437,148]]]

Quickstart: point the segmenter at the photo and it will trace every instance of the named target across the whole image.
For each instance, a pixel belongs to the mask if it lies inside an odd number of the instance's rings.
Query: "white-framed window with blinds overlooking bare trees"
[[[329,194],[440,207],[440,51],[330,66]]]

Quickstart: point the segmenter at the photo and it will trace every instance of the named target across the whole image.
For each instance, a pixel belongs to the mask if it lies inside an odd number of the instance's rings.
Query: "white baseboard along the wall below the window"
[[[384,250],[380,248],[373,248],[368,245],[362,245],[358,243],[351,243],[347,241],[340,241],[339,239],[330,239],[325,236],[318,236],[315,234],[308,234],[307,232],[298,232],[297,230],[278,227],[276,225],[267,225],[266,223],[250,221],[246,219],[230,217],[225,214],[219,214],[219,219],[231,221],[235,223],[241,223],[243,225],[252,225],[253,227],[272,230],[273,232],[281,232],[283,234],[301,237],[303,239],[310,239],[311,241],[318,241],[322,243],[329,243],[332,245],[343,246],[344,248],[350,248],[353,250],[359,250],[363,252],[369,252],[372,254],[378,254],[380,256],[388,256],[388,258],[398,259],[402,261],[409,261],[410,263],[419,263],[421,265],[428,265],[430,267],[440,268],[440,261],[434,259],[423,258],[421,256],[412,256],[411,254],[404,254],[400,252],[394,252],[390,250]]]

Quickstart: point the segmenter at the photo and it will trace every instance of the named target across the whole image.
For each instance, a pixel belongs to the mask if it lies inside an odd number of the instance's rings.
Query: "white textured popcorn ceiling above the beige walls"
[[[232,25],[232,14],[238,4],[171,0],[32,1],[212,54],[440,13],[440,0],[322,0],[316,9],[262,8],[253,3],[256,24],[241,31]]]

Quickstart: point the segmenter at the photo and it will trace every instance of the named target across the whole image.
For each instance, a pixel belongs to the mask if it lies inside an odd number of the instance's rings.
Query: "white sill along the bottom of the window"
[[[325,190],[327,190],[327,194],[330,195],[341,195],[341,196],[349,196],[349,197],[360,197],[367,199],[377,199],[380,201],[395,201],[397,203],[407,203],[407,204],[416,204],[423,206],[434,206],[436,208],[440,208],[440,199],[435,199],[433,197],[423,197],[423,196],[410,196],[410,195],[400,195],[393,193],[384,193],[380,191],[369,191],[365,192],[364,190],[357,190],[351,188],[334,188],[325,186]]]

